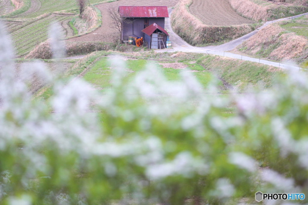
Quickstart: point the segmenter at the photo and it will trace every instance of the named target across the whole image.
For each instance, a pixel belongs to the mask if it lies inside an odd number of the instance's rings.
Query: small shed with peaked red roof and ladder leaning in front
[[[164,49],[166,48],[168,32],[156,23],[151,24],[142,30],[144,33],[144,41],[148,43],[148,48]]]

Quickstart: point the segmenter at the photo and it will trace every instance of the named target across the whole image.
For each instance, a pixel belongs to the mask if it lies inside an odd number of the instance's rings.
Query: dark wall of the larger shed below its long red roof
[[[141,30],[144,29],[145,18],[129,18],[131,23],[123,24],[123,40],[127,41],[129,36],[132,37],[144,37],[144,33]],[[157,25],[165,28],[165,18],[148,18],[149,25],[156,23]]]

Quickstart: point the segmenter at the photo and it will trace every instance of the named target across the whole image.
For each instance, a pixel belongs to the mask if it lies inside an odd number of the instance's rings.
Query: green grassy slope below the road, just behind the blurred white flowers
[[[192,72],[204,87],[212,79],[218,78],[218,87],[222,93],[228,92],[227,90],[232,87],[240,90],[245,89],[248,85],[254,86],[260,81],[263,82],[265,88],[271,87],[274,76],[282,73],[276,67],[208,54],[155,53],[152,51],[124,54],[99,51],[96,54],[92,53],[85,58],[76,60],[75,65],[67,70],[64,76],[69,80],[81,75],[83,79],[93,84],[101,92],[111,91],[112,66],[107,62],[107,56],[111,54],[118,54],[127,58],[126,63],[129,72],[126,78],[128,81],[138,71],[144,69],[149,61],[160,63],[157,66],[168,80],[179,80],[180,72],[183,69],[175,68],[180,64],[182,67],[187,67],[187,72]],[[46,62],[53,62],[53,60]],[[176,63],[175,67],[174,63]],[[51,92],[51,88],[44,88],[38,92],[38,97],[48,99]]]

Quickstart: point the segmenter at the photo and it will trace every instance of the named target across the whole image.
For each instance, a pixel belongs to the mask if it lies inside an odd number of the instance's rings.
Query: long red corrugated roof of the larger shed
[[[167,6],[119,6],[121,17],[169,17]]]

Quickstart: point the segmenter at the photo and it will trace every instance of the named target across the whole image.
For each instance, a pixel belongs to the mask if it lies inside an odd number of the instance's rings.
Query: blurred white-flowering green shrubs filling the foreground
[[[52,45],[58,58],[61,47]],[[2,204],[229,204],[256,191],[308,194],[306,72],[270,90],[222,96],[214,81],[203,90],[182,72],[170,82],[151,64],[128,82],[115,58],[112,92],[102,95],[81,79],[52,78],[40,62],[14,79],[11,57],[0,25]],[[34,73],[50,86],[48,102],[27,90]],[[235,112],[226,116],[229,106]]]

